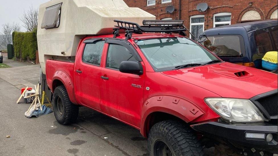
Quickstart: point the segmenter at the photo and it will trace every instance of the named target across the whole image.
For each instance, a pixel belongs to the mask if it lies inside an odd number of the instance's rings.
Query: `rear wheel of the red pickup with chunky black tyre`
[[[78,117],[79,107],[69,100],[65,86],[58,86],[53,93],[53,112],[60,124],[70,124]]]

